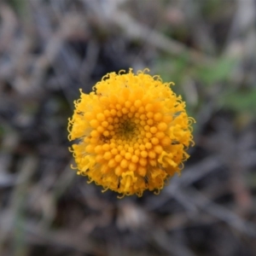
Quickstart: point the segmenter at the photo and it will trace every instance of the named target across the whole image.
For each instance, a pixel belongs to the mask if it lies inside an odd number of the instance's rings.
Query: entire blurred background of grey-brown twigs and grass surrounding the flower
[[[0,255],[256,255],[256,1],[0,1]],[[145,67],[187,102],[195,147],[160,193],[71,170],[79,88]]]

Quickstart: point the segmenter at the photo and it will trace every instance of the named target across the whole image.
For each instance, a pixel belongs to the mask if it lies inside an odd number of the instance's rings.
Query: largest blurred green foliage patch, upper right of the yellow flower
[[[253,113],[256,109],[256,90],[241,90],[244,86],[240,87],[237,84],[236,87],[234,86],[233,76],[239,64],[240,61],[235,57],[221,56],[212,65],[191,65],[187,55],[180,55],[177,58],[165,55],[157,60],[156,69],[164,81],[173,81],[177,84],[173,90],[184,96],[186,101],[189,94],[186,81],[189,79],[197,84],[196,104],[189,105],[187,101],[188,110],[192,114],[196,115],[205,108],[209,100],[214,102],[212,108],[215,109],[224,108],[236,113]]]

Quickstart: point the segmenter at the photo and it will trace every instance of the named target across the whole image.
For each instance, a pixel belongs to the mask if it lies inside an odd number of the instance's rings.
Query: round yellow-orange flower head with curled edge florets
[[[69,119],[79,175],[121,195],[160,191],[180,173],[193,144],[185,103],[159,76],[108,73],[90,94],[81,91]]]

